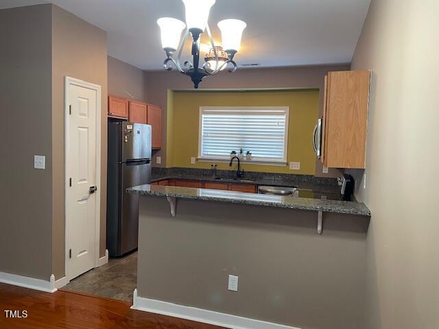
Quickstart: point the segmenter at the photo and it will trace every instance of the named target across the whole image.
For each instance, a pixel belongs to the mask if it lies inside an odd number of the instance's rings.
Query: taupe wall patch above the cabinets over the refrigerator
[[[108,56],[108,94],[136,101],[147,100],[145,72]]]

